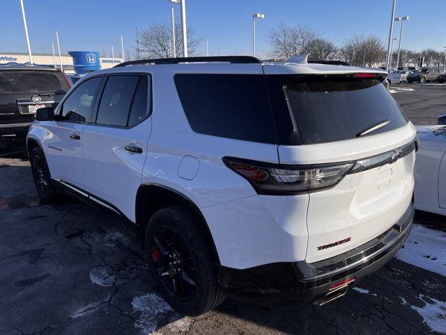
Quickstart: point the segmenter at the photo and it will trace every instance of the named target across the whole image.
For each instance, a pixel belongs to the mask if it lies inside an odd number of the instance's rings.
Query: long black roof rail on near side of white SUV
[[[178,58],[158,58],[158,59],[139,59],[138,61],[125,61],[115,65],[115,68],[121,68],[128,65],[139,64],[178,64],[178,63],[209,63],[225,62],[231,64],[262,64],[262,61],[251,56],[211,56],[211,57],[178,57]]]

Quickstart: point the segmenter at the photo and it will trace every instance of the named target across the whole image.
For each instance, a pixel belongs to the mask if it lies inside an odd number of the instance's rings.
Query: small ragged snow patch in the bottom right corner
[[[437,299],[426,297],[433,302],[431,304],[429,301],[425,301],[423,299],[424,295],[419,295],[418,298],[424,302],[424,306],[410,306],[410,308],[417,311],[417,313],[422,316],[423,322],[429,328],[431,328],[433,332],[446,334],[446,303]]]

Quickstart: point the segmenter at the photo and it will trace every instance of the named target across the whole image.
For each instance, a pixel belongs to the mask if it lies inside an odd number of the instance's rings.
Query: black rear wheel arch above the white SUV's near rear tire
[[[139,186],[137,191],[137,198],[135,202],[135,221],[139,226],[139,242],[141,247],[145,248],[145,232],[148,220],[155,214],[156,211],[167,206],[178,205],[187,209],[187,211],[196,216],[199,220],[197,221],[203,231],[206,233],[210,245],[213,248],[215,255],[215,262],[220,265],[220,258],[218,256],[217,247],[215,246],[215,241],[213,239],[212,233],[210,232],[208,223],[201,213],[197,204],[195,204],[190,198],[188,198],[183,193],[169,188],[168,186],[158,185],[158,184],[142,184]]]

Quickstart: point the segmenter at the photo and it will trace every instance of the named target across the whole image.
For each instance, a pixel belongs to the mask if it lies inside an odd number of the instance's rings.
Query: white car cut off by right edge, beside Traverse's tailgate
[[[415,163],[415,208],[446,215],[446,114],[437,126],[417,126],[420,151]]]

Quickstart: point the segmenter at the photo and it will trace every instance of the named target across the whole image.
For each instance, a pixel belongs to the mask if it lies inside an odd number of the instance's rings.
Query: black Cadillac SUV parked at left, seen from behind
[[[36,110],[56,107],[70,87],[52,66],[0,65],[0,151],[13,142],[25,144]]]

